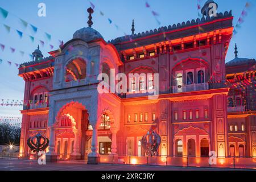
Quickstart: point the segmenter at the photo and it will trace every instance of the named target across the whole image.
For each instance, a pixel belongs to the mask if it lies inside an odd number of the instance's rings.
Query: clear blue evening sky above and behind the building
[[[201,0],[205,2],[206,0]],[[38,16],[38,4],[46,4],[46,17]],[[145,0],[92,0],[96,6],[93,14],[93,28],[101,33],[105,40],[111,40],[118,36],[123,36],[131,33],[131,21],[135,22],[135,33],[187,22],[198,18],[197,15],[197,0],[148,0],[150,9],[146,8]],[[216,0],[218,3],[218,12],[232,10],[234,15],[234,26],[240,17],[242,10],[245,7],[246,0]],[[256,58],[255,43],[256,43],[256,11],[255,0],[249,1],[252,4],[247,11],[245,21],[241,28],[238,29],[238,34],[233,37],[230,43],[226,61],[234,58],[234,43],[238,45],[238,56]],[[82,27],[87,27],[88,13],[86,9],[90,6],[89,1],[74,0],[0,0],[0,7],[10,11],[6,19],[0,15],[0,44],[5,44],[5,51],[0,49],[0,59],[3,63],[0,64],[0,103],[1,99],[23,100],[24,81],[18,77],[18,69],[14,63],[24,63],[31,61],[28,55],[32,53],[39,43],[39,40],[46,42],[44,47],[40,46],[44,56],[48,56],[48,51],[51,51],[49,44],[55,48],[59,45],[59,40],[67,42],[72,39],[73,33]],[[160,26],[156,22],[151,11],[154,10],[159,14],[158,19]],[[104,16],[100,14],[104,13]],[[24,28],[19,21],[19,18],[26,20],[28,23],[38,27],[38,32],[34,34],[28,26]],[[113,21],[109,23],[109,19]],[[5,30],[3,24],[11,27],[10,33]],[[116,24],[118,29],[114,26]],[[15,30],[23,32],[23,38],[20,39]],[[52,35],[50,42],[44,36],[44,32]],[[35,36],[35,42],[32,43],[28,35]],[[16,49],[11,53],[10,47]],[[19,51],[24,51],[22,56]],[[7,61],[13,62],[10,66]],[[22,107],[6,107],[0,106],[0,116],[20,116],[19,110]]]

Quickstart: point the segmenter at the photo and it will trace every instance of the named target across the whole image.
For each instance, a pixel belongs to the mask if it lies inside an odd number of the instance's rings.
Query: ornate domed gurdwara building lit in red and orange
[[[92,10],[88,10],[93,13]],[[27,138],[49,138],[47,159],[144,155],[141,139],[154,129],[161,156],[256,157],[255,60],[225,64],[233,34],[231,11],[105,42],[89,26],[43,58],[19,68],[24,78],[20,157]],[[98,93],[100,73],[159,74],[127,81],[126,94]],[[242,85],[241,85],[242,81]],[[117,82],[117,81],[115,81]],[[148,99],[147,89],[159,96]],[[147,90],[148,91],[148,90]]]

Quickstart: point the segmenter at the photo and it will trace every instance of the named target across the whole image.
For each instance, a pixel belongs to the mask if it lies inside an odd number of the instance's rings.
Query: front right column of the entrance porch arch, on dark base
[[[98,164],[98,126],[96,122],[91,122],[90,124],[93,127],[93,135],[91,147],[92,152],[90,152],[90,154],[88,155],[88,164]]]

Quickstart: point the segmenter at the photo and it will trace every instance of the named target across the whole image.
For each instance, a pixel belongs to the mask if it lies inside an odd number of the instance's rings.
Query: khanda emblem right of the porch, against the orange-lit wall
[[[158,155],[158,148],[161,143],[161,137],[154,130],[150,129],[147,134],[142,137],[141,144],[146,155]]]

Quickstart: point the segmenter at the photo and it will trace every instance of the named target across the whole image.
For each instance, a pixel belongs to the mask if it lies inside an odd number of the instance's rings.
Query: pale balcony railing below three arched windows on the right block
[[[172,93],[193,92],[193,91],[208,90],[208,89],[209,89],[208,83],[172,86]]]

